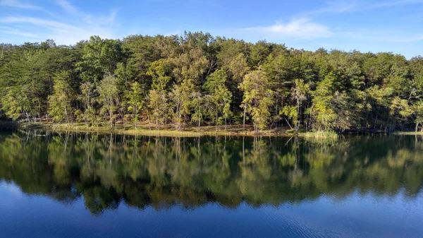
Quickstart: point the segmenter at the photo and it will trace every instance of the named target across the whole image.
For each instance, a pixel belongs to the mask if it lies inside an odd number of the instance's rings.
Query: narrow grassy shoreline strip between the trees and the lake
[[[200,128],[200,131],[198,131],[197,126],[185,126],[182,130],[178,131],[171,125],[162,126],[161,129],[155,129],[154,126],[151,126],[150,129],[148,124],[141,124],[140,126],[138,126],[138,129],[135,129],[135,126],[133,125],[127,125],[124,128],[122,124],[116,125],[114,126],[114,128],[110,128],[109,125],[87,126],[83,123],[55,124],[53,122],[18,123],[14,121],[0,121],[0,131],[11,129],[35,129],[57,132],[71,131],[80,133],[116,133],[128,136],[300,136],[315,139],[336,139],[338,138],[338,136],[342,135],[360,134],[355,132],[336,133],[334,131],[295,131],[294,129],[290,129],[290,127],[288,126],[278,127],[274,129],[266,129],[259,131],[259,133],[255,134],[253,126],[250,124],[245,125],[245,131],[243,130],[243,125],[231,125],[228,126],[227,130],[224,130],[224,126],[218,126],[217,130],[216,126],[202,126]],[[362,131],[361,134],[392,134],[397,136],[419,136],[423,135],[423,131],[393,131],[392,133],[382,133],[381,131],[371,133],[369,131]]]

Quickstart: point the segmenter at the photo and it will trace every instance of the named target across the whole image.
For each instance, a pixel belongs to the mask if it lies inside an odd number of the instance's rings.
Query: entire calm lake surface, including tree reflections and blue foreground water
[[[0,134],[0,237],[423,237],[415,136]]]

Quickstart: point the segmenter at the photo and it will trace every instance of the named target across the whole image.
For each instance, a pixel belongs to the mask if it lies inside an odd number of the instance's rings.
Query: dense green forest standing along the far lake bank
[[[423,129],[423,57],[184,35],[0,44],[0,107],[87,126]]]

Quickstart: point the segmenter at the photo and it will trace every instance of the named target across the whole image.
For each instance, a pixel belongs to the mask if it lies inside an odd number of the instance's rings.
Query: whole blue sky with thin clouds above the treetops
[[[0,0],[0,42],[211,32],[298,49],[423,55],[423,0]]]

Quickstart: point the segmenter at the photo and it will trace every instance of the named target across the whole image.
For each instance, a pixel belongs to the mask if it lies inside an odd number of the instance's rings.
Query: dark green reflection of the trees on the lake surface
[[[197,208],[302,203],[355,192],[417,196],[423,141],[355,136],[335,142],[272,137],[156,137],[20,131],[0,134],[0,181],[93,214],[124,202]]]

